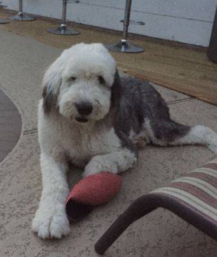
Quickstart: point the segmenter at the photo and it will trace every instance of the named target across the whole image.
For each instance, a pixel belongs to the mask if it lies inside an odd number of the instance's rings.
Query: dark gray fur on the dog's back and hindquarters
[[[144,130],[144,120],[149,120],[153,135],[163,142],[172,142],[189,132],[189,126],[171,120],[169,108],[160,93],[149,82],[133,77],[120,81],[121,97],[115,112],[115,132],[127,148],[135,152],[129,139],[130,131]],[[127,139],[126,139],[127,137]]]

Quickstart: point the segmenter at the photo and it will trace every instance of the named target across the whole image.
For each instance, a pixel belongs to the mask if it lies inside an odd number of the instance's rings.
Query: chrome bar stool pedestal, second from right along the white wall
[[[66,9],[67,3],[79,3],[78,0],[63,0],[62,1],[62,21],[58,28],[48,28],[47,32],[57,35],[79,35],[80,32],[67,28],[66,26]]]

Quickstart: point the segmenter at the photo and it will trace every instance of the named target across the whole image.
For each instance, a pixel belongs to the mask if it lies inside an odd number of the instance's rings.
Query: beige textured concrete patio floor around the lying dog
[[[1,257],[97,256],[93,245],[132,200],[214,158],[202,146],[147,146],[140,153],[138,166],[124,173],[122,189],[114,200],[73,224],[70,234],[62,240],[37,238],[30,229],[41,193],[37,103],[44,69],[60,52],[0,28],[0,87],[15,102],[23,121],[17,146],[0,164]],[[160,86],[156,88],[169,102],[176,120],[217,128],[216,106]],[[80,171],[72,170],[70,184],[80,176]],[[173,213],[158,209],[129,227],[106,256],[214,257],[216,251],[214,240]]]

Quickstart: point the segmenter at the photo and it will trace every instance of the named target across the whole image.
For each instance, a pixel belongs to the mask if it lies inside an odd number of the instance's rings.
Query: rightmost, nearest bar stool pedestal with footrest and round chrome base
[[[116,44],[106,45],[106,48],[111,51],[122,52],[122,53],[141,53],[144,51],[143,48],[139,46],[134,46],[133,44],[129,43],[129,41],[127,41],[129,23],[132,23],[130,21],[131,2],[132,2],[131,0],[126,0],[126,4],[125,4],[123,38],[121,39],[120,42]],[[133,23],[135,24],[135,22]],[[136,24],[144,25],[143,22],[136,22]]]

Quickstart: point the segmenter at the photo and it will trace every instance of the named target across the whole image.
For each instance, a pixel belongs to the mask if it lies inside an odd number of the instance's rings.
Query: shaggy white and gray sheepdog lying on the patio
[[[102,44],[77,44],[48,68],[39,102],[43,190],[32,222],[41,238],[69,232],[65,211],[68,160],[84,177],[126,171],[138,161],[138,146],[204,144],[217,153],[217,134],[205,126],[171,120],[169,108],[149,83],[120,79]]]

